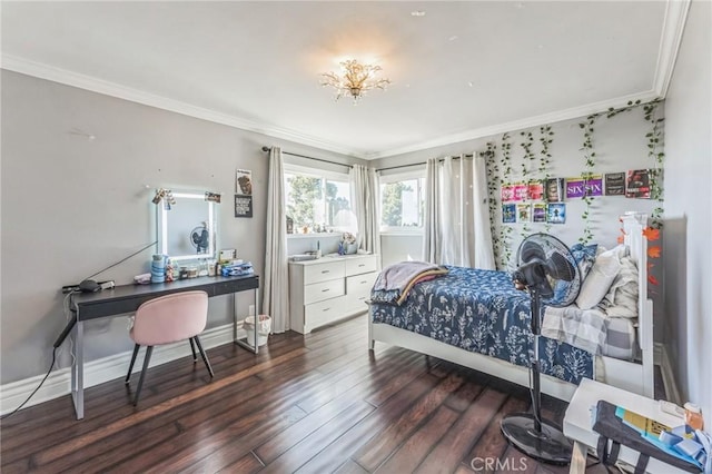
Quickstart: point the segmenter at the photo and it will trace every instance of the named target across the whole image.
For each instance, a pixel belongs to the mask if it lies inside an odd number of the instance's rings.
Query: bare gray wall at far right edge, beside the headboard
[[[712,423],[712,4],[693,1],[666,102],[668,342],[685,399]]]

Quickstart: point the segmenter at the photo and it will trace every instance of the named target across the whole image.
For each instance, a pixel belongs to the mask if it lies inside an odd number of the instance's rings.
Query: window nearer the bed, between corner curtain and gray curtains
[[[380,231],[419,231],[425,208],[425,171],[380,177]]]

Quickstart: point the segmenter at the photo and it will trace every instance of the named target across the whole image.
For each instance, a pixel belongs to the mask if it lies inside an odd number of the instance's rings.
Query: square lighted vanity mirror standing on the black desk
[[[164,198],[156,206],[158,250],[174,260],[215,258],[217,195],[198,191],[168,192],[172,198]]]

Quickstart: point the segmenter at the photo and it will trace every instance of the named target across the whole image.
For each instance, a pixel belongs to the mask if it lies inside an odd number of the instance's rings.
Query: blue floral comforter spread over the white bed
[[[533,356],[531,300],[506,271],[448,266],[447,275],[415,285],[400,305],[373,303],[374,323],[432,337],[528,367]],[[542,373],[578,384],[593,378],[593,356],[542,337]]]

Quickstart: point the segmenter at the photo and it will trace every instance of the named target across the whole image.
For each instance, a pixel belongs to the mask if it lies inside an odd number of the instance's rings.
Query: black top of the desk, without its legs
[[[150,285],[121,285],[96,293],[77,293],[71,296],[71,308],[78,320],[95,319],[123,313],[132,313],[149,299],[171,293],[204,290],[208,296],[227,295],[259,288],[259,276],[198,277]]]

